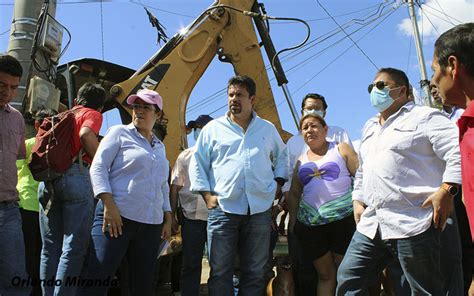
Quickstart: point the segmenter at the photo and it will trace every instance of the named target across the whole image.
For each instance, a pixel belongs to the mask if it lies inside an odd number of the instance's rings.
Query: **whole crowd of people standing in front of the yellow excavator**
[[[435,43],[431,93],[413,102],[407,75],[381,68],[368,87],[376,115],[356,151],[326,122],[328,102],[302,100],[285,144],[254,110],[256,85],[228,81],[228,111],[186,128],[195,145],[174,167],[153,128],[166,98],[126,100],[132,122],[99,141],[105,90],[86,83],[72,109],[73,164],[37,182],[35,138],[9,103],[23,74],[0,56],[0,295],[106,295],[128,263],[130,295],[153,295],[162,241],[182,235],[181,295],[265,295],[287,207],[295,295],[467,295],[474,233],[474,23]],[[38,128],[53,110],[35,114]],[[278,202],[276,202],[278,201]],[[273,229],[272,229],[273,228]],[[271,277],[271,276],[270,276]]]

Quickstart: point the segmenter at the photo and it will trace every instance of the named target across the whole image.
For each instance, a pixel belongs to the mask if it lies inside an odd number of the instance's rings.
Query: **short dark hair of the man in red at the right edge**
[[[455,56],[470,76],[474,76],[474,23],[460,24],[439,36],[435,42],[435,56],[444,70],[449,56]]]

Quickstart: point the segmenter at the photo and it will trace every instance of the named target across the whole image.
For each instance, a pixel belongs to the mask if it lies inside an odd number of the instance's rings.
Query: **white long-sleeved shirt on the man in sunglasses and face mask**
[[[443,182],[461,183],[457,127],[440,111],[408,102],[383,125],[364,127],[352,199],[367,205],[357,231],[408,238],[426,231],[433,208],[421,204]]]

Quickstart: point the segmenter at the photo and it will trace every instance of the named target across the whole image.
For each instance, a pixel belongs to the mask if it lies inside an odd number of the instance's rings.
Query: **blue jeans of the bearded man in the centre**
[[[236,215],[223,212],[217,206],[209,210],[207,230],[211,266],[209,295],[233,295],[232,274],[237,254],[240,258],[239,295],[263,295],[271,211]]]

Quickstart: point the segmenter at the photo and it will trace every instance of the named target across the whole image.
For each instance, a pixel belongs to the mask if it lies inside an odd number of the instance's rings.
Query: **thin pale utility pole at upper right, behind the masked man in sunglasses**
[[[416,22],[416,13],[415,13],[415,5],[413,0],[406,0],[408,3],[408,11],[410,13],[410,19],[413,26],[413,37],[415,37],[415,44],[416,44],[416,53],[418,56],[418,65],[420,68],[420,86],[423,90],[423,101],[424,104],[427,106],[432,106],[431,102],[431,93],[430,93],[430,85],[428,80],[428,75],[426,75],[426,66],[425,66],[425,58],[423,57],[423,49],[421,47],[421,40],[420,40],[420,31],[418,30],[418,23]]]

